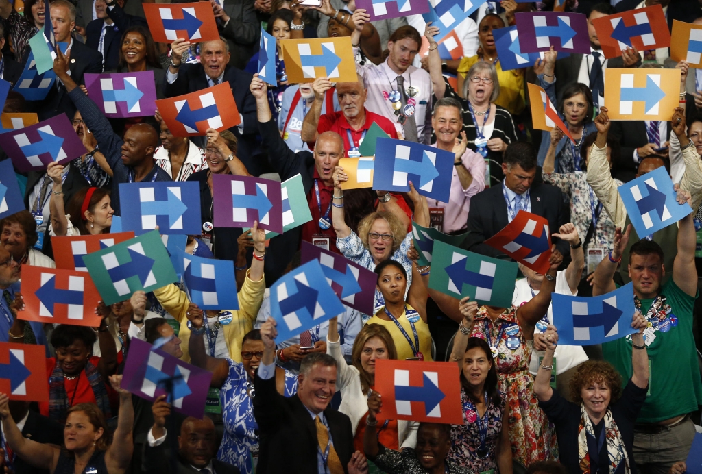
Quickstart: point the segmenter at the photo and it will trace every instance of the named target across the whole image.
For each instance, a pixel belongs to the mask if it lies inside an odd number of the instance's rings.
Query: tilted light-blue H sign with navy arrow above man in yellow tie
[[[278,323],[277,341],[290,339],[344,311],[318,260],[298,266],[270,287],[270,313]]]

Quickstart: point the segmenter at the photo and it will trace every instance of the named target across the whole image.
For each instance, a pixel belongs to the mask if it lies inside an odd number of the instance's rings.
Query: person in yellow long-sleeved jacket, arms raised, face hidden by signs
[[[244,285],[239,291],[239,309],[206,310],[207,324],[205,330],[205,351],[216,358],[230,358],[241,363],[241,340],[244,334],[253,329],[258,309],[263,302],[265,281],[263,280],[263,260],[265,259],[265,231],[258,229],[258,222],[251,228],[253,237],[253,260],[251,269],[246,273]],[[230,282],[232,288],[236,283]],[[154,290],[154,295],[168,313],[180,323],[178,337],[182,341],[182,360],[190,363],[188,341],[190,341],[190,327],[187,324],[188,312],[197,309],[197,304],[187,299],[187,294],[180,291],[176,285],[168,285]]]

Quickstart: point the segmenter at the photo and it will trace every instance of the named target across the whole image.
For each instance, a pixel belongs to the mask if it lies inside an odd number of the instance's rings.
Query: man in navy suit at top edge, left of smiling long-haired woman
[[[127,28],[135,26],[148,27],[146,20],[128,15],[124,8],[126,0],[95,0],[97,20],[86,27],[86,45],[102,54],[105,71],[117,69],[122,34]]]

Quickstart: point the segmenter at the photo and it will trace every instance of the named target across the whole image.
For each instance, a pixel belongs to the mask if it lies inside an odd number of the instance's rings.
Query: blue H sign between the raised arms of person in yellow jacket
[[[239,297],[232,291],[234,262],[206,259],[178,250],[176,271],[183,275],[190,301],[200,309],[239,309]]]

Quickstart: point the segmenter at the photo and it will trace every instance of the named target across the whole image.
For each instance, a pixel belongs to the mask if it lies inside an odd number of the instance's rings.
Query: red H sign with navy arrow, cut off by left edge
[[[44,346],[0,343],[0,392],[10,400],[48,402]]]

